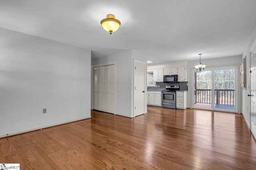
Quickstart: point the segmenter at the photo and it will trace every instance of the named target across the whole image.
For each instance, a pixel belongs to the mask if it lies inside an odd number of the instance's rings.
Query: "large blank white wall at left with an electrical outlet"
[[[0,137],[91,117],[90,50],[0,32]]]

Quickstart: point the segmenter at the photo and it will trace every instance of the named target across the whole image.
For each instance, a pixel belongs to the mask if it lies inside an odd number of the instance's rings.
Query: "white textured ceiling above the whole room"
[[[110,35],[107,14],[121,21]],[[256,25],[256,0],[0,0],[0,27],[91,49],[128,50],[154,63],[242,55]]]

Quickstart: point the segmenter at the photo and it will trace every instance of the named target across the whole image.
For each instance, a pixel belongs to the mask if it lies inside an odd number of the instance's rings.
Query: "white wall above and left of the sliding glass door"
[[[194,61],[188,61],[188,69],[187,69],[187,75],[188,75],[188,107],[191,106],[190,104],[190,82],[192,81],[191,77],[191,68],[195,69],[195,65],[197,65],[199,62],[199,57],[198,60]],[[220,67],[220,66],[228,66],[228,65],[233,65],[233,64],[241,64],[242,62],[242,56],[231,56],[231,57],[220,57],[220,58],[215,58],[215,59],[202,59],[201,62],[206,65],[206,70],[207,68],[210,67]],[[238,74],[240,72],[238,71]],[[238,76],[238,78],[240,78]],[[239,83],[239,88],[240,88],[240,83]]]

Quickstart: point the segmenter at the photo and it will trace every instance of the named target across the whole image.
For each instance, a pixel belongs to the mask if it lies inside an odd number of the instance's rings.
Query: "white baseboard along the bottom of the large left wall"
[[[59,123],[54,123],[54,124],[51,124],[51,125],[45,125],[45,126],[41,126],[41,127],[34,127],[34,128],[26,129],[26,130],[23,130],[23,131],[17,131],[17,132],[8,133],[6,135],[0,135],[0,138],[12,136],[12,135],[18,135],[20,133],[26,133],[26,132],[30,132],[30,131],[40,130],[40,129],[44,129],[44,128],[48,128],[48,127],[52,127],[52,126],[56,126],[56,125],[62,125],[62,124],[71,123],[71,122],[74,122],[74,121],[79,121],[79,120],[89,119],[89,118],[91,118],[91,116],[82,117],[82,118],[79,118],[79,119],[73,119],[73,120],[64,121],[64,122],[59,122]]]

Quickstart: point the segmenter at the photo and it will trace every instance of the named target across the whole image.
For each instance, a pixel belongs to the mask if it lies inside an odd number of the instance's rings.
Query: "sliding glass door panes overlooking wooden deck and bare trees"
[[[236,112],[236,70],[236,67],[194,70],[193,108]]]

